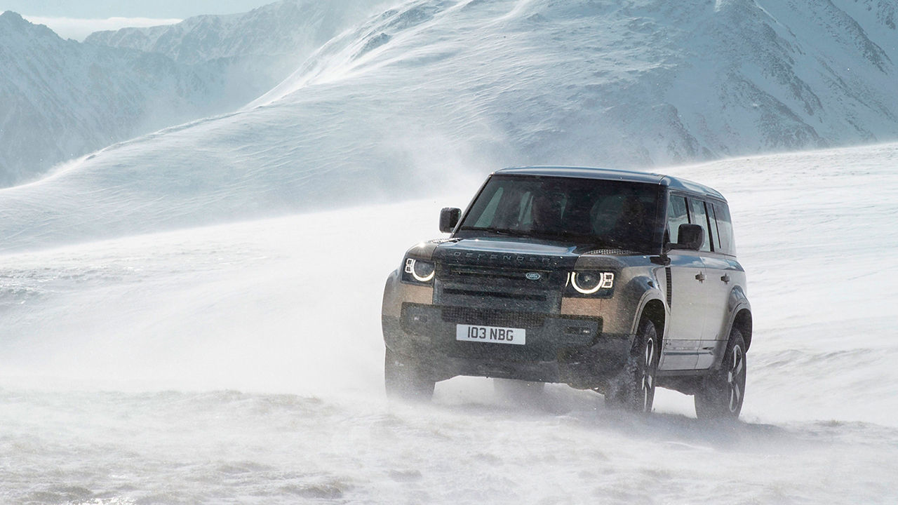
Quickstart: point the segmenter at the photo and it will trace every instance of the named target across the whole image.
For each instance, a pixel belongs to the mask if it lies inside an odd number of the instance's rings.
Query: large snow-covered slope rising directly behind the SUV
[[[14,248],[412,198],[506,164],[894,138],[894,28],[875,14],[887,4],[869,5],[406,1],[242,111],[0,192],[0,233]]]

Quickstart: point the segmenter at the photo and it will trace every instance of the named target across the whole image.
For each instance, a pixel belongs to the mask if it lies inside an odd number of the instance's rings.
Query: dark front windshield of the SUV
[[[657,198],[653,184],[494,175],[460,230],[644,251],[655,242]]]

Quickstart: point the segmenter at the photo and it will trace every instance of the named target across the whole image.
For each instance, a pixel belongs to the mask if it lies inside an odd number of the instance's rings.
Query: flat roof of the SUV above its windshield
[[[718,190],[714,190],[699,184],[687,181],[679,177],[671,177],[661,173],[636,172],[632,170],[620,170],[616,168],[595,168],[588,166],[515,166],[503,168],[494,172],[502,175],[533,175],[541,177],[573,177],[579,179],[602,179],[605,181],[643,182],[647,184],[659,184],[674,190],[689,191],[724,199]]]

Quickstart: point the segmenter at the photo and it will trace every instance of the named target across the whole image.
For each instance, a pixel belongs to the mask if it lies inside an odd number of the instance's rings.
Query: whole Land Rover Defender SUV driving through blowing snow
[[[448,238],[415,245],[383,292],[387,393],[455,376],[556,382],[651,412],[656,386],[735,419],[752,313],[726,199],[598,168],[492,173]]]

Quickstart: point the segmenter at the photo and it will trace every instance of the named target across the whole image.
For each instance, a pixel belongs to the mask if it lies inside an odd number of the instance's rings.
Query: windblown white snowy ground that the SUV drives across
[[[0,502],[894,503],[898,145],[664,172],[730,199],[743,419],[487,379],[383,398],[380,297],[438,200],[0,256]],[[20,241],[23,240],[20,237]]]

